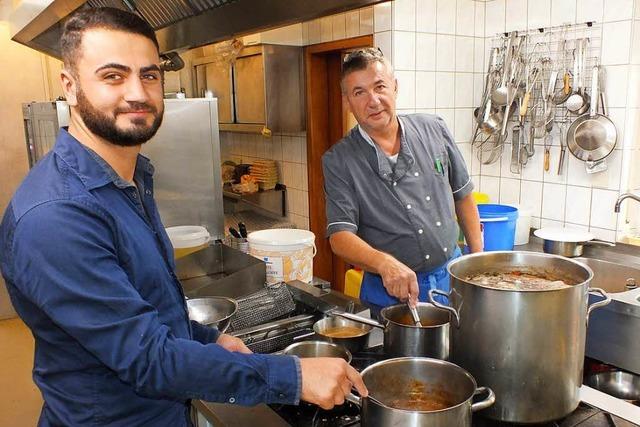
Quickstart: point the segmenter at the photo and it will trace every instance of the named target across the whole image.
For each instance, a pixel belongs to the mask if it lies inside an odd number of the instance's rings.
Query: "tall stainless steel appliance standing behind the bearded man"
[[[165,227],[202,225],[224,237],[218,102],[215,98],[165,99],[158,133],[142,146],[155,167],[155,198]],[[68,125],[63,101],[23,105],[29,163],[35,163]]]

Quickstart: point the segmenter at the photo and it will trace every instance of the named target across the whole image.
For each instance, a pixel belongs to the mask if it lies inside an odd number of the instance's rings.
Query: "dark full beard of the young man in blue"
[[[77,101],[76,109],[87,128],[106,141],[121,147],[141,145],[153,138],[162,124],[164,115],[164,104],[162,110],[158,112],[156,107],[145,102],[128,102],[128,107],[114,109],[113,116],[111,116],[95,108],[85,96],[82,88],[78,88]],[[118,114],[141,110],[148,111],[153,115],[154,119],[151,125],[147,126],[145,119],[134,119],[131,120],[133,128],[126,130],[118,128],[116,124]]]

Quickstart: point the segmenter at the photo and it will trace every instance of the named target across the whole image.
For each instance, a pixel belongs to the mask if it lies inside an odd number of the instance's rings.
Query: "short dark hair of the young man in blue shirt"
[[[86,30],[102,28],[139,34],[153,42],[160,50],[153,28],[135,13],[113,7],[82,7],[71,14],[64,24],[60,38],[60,50],[65,68],[75,71],[78,61],[82,33]]]

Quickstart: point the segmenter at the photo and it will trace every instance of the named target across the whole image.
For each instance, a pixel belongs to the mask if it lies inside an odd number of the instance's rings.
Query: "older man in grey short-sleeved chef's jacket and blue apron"
[[[444,121],[396,115],[398,82],[377,49],[342,64],[342,99],[358,125],[322,158],[332,250],[365,270],[360,299],[388,306],[449,289],[458,225],[482,250],[473,184]]]

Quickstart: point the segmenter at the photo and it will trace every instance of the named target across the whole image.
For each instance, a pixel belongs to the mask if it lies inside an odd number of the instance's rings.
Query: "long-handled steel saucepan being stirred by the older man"
[[[449,358],[449,313],[421,302],[416,307],[422,326],[413,324],[407,304],[385,307],[380,311],[383,322],[336,313],[349,320],[361,322],[384,330],[384,351],[391,357],[416,356]]]

